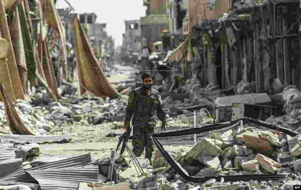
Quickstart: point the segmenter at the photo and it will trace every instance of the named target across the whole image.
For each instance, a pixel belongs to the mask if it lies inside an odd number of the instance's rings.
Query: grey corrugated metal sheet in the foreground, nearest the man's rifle
[[[41,169],[26,171],[34,177],[42,190],[64,188],[76,190],[78,182],[98,183],[98,166],[89,164],[80,167],[67,167],[57,169]]]

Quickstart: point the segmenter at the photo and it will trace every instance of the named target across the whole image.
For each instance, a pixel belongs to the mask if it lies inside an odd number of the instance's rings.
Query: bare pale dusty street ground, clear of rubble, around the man
[[[112,74],[108,79],[111,83],[127,80],[132,76],[135,76],[135,71],[137,71],[137,69],[130,66],[115,65],[115,68],[112,70]],[[91,153],[95,156],[95,159],[110,156],[111,151],[116,149],[119,136],[106,137],[107,134],[123,134],[124,130],[114,129],[113,122],[107,122],[99,125],[73,124],[63,128],[62,131],[56,132],[56,134],[66,133],[71,134],[73,141],[62,144],[41,144],[41,156],[47,155],[67,158],[86,153]],[[169,140],[165,139],[161,142],[165,145],[164,148],[171,152],[183,152],[193,147],[193,140],[191,139],[178,141],[176,137],[171,137]],[[132,147],[131,140],[129,140],[129,146]],[[125,152],[125,154],[127,153]],[[142,157],[144,158],[144,154],[141,158]]]

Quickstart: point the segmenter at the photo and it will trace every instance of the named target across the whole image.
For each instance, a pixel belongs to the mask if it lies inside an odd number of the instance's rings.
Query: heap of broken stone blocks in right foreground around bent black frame
[[[158,188],[162,190],[210,189],[289,189],[301,183],[301,135],[291,137],[279,131],[268,131],[245,125],[228,131],[212,131],[198,141],[190,151],[171,154],[190,176],[210,177],[246,174],[283,174],[286,180],[249,182],[223,182],[210,179],[192,183],[173,170],[158,150],[153,167],[157,174],[137,178],[135,168],[129,164],[119,173],[133,189]]]

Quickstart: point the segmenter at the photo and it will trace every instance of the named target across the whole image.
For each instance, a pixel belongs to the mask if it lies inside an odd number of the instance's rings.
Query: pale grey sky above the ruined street
[[[125,30],[124,20],[136,20],[145,16],[146,7],[143,0],[68,0],[75,13],[91,13],[97,15],[97,23],[107,23],[107,34],[115,39],[115,46],[122,44]],[[103,2],[103,3],[101,3]],[[56,8],[66,8],[64,0],[58,0]]]

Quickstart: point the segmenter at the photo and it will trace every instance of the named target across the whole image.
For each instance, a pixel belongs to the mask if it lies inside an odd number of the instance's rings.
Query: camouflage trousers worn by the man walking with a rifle
[[[151,159],[155,150],[151,134],[156,131],[156,123],[154,122],[134,122],[133,126],[133,152],[140,157],[145,148],[145,158]]]

